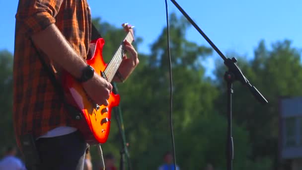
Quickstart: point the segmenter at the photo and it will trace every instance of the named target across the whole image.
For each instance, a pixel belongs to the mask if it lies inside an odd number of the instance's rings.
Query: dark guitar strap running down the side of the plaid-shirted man
[[[94,26],[93,23],[91,23],[91,39],[97,39],[100,38],[101,34],[97,31],[96,27]],[[36,53],[38,54],[39,60],[43,66],[43,68],[45,69],[50,81],[52,82],[55,90],[57,91],[58,95],[60,96],[61,100],[63,101],[64,105],[67,107],[68,112],[71,114],[71,117],[73,119],[79,120],[82,119],[83,116],[81,114],[81,111],[77,108],[75,108],[74,106],[72,106],[71,104],[69,104],[64,97],[64,90],[62,85],[60,85],[60,83],[57,81],[56,76],[54,75],[53,71],[51,70],[51,68],[46,64],[44,58],[42,57],[41,53],[39,52],[39,50],[36,48],[36,46],[34,45],[32,39],[31,40],[31,44],[34,47]]]

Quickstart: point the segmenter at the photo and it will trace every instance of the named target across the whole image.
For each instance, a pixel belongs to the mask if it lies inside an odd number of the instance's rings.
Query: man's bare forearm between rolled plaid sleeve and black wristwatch
[[[64,70],[75,78],[79,78],[81,70],[87,66],[55,24],[34,34],[32,40],[51,60],[60,64]]]

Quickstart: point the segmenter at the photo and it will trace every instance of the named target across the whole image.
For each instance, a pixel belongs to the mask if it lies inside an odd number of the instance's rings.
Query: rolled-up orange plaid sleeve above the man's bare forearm
[[[19,0],[16,29],[29,36],[55,23],[63,0]]]

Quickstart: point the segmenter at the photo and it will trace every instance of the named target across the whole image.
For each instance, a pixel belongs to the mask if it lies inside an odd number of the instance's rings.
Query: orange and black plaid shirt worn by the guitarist
[[[42,67],[31,35],[55,23],[75,51],[86,58],[91,15],[86,0],[19,0],[15,17],[13,120],[19,144],[20,136],[26,133],[39,137],[75,123]],[[40,54],[50,66],[56,66]]]

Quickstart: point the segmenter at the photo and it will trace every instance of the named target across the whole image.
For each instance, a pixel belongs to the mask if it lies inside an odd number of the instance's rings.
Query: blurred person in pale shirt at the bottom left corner
[[[17,150],[13,146],[5,149],[4,157],[0,161],[0,170],[25,170],[22,161],[16,157]]]

